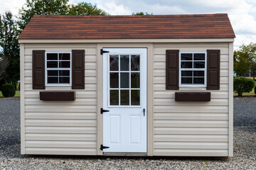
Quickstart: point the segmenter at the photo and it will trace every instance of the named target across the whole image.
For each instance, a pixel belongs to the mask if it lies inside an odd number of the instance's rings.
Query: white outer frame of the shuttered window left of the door
[[[65,54],[70,54],[70,60],[65,60],[65,61],[70,61],[70,68],[47,68],[47,54],[59,54],[59,53],[65,53]],[[55,61],[55,60],[53,60]],[[58,58],[58,65],[59,65],[59,58]],[[64,60],[61,60],[64,61]],[[69,70],[70,71],[70,83],[69,84],[48,84],[48,70]],[[45,55],[45,82],[46,86],[72,86],[72,52],[46,52]]]

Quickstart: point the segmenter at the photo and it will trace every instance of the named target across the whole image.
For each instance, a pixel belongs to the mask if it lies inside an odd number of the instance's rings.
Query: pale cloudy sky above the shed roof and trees
[[[26,0],[0,0],[0,13],[18,8]],[[70,0],[78,4],[82,0]],[[86,0],[84,0],[86,1]],[[242,44],[256,42],[256,0],[87,0],[110,15],[131,15],[136,12],[158,14],[228,13],[235,31],[234,50]]]

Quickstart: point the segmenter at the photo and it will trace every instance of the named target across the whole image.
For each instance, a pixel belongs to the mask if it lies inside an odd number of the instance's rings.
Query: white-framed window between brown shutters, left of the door
[[[71,85],[71,52],[46,52],[46,86]]]

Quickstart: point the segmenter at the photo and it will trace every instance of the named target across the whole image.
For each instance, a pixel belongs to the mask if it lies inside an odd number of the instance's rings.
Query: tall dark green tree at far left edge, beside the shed
[[[19,44],[18,29],[11,12],[0,16],[0,46],[3,47],[3,55],[8,58],[9,65],[6,68],[6,81],[19,79]]]

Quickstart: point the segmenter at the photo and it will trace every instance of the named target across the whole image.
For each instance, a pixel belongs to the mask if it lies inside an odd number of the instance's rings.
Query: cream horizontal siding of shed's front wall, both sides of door
[[[154,92],[150,95],[154,98],[154,114],[153,127],[148,128],[153,128],[154,156],[229,156],[228,76],[229,58],[232,56],[230,43],[152,44],[154,66],[148,68],[148,74],[153,69],[151,77],[154,81]],[[21,80],[24,76],[24,91],[21,89],[21,98],[24,98],[24,107],[21,106],[24,111],[24,113],[21,111],[21,118],[24,119],[21,120],[21,125],[24,126],[21,127],[23,154],[98,154],[97,140],[102,137],[97,135],[97,107],[101,107],[97,106],[97,96],[100,96],[97,94],[97,43],[26,43],[21,47],[23,47],[25,68],[24,72],[21,70]],[[174,100],[176,91],[166,91],[166,50],[206,52],[211,49],[220,50],[220,90],[208,91],[211,93],[210,102],[176,102]],[[32,89],[32,50],[46,50],[46,52],[85,50],[85,89],[74,90],[75,101],[39,100],[41,90]],[[45,91],[57,90],[71,90],[71,87],[46,87]],[[178,91],[207,90],[202,87],[180,87]]]

